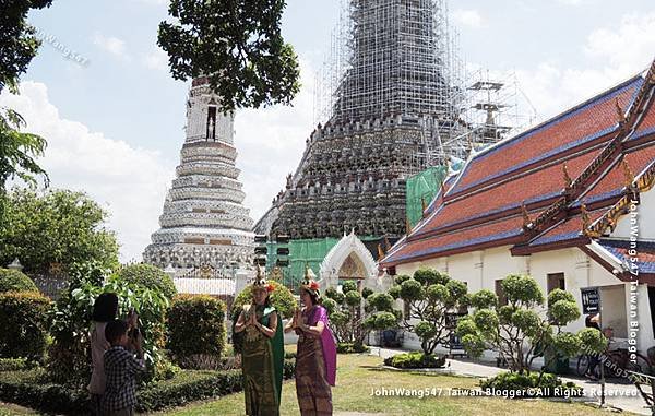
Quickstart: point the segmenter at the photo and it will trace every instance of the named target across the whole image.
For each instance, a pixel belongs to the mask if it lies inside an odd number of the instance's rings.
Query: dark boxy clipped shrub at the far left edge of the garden
[[[50,299],[35,292],[0,294],[0,356],[41,360]]]

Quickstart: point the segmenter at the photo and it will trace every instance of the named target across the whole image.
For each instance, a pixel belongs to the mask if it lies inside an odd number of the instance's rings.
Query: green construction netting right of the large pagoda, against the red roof
[[[407,219],[409,219],[413,227],[422,217],[421,199],[425,201],[426,206],[430,204],[437,192],[439,192],[441,180],[445,178],[446,173],[446,167],[434,166],[407,178],[405,209]]]

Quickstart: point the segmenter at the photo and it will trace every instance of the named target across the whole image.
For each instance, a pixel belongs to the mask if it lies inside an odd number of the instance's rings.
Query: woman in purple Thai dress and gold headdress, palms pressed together
[[[302,309],[285,328],[296,331],[296,394],[302,416],[332,415],[332,390],[336,378],[336,343],[327,326],[327,311],[321,306],[319,284],[310,280],[308,269],[300,286]]]

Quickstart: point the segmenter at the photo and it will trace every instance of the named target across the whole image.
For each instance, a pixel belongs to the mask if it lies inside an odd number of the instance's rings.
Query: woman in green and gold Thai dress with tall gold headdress
[[[279,415],[284,341],[281,317],[269,297],[272,290],[258,268],[252,304],[243,306],[235,325],[235,332],[245,331],[241,368],[249,416]]]

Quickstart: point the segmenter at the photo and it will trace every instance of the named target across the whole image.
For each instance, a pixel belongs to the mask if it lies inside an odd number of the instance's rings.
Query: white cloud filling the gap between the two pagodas
[[[235,143],[246,192],[246,206],[257,222],[298,166],[313,129],[313,70],[300,57],[302,87],[293,107],[277,105],[237,111]]]

